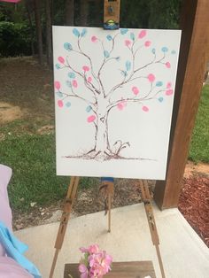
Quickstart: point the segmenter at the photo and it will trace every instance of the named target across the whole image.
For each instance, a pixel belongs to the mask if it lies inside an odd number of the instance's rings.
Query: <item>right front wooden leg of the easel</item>
[[[140,189],[142,192],[143,204],[144,204],[148,224],[149,224],[150,231],[151,231],[151,240],[152,240],[153,245],[155,245],[156,252],[158,255],[158,259],[159,259],[160,272],[161,272],[162,278],[166,278],[160,251],[159,251],[159,235],[158,235],[158,231],[157,231],[157,227],[156,227],[156,223],[155,223],[155,219],[154,219],[154,214],[153,214],[153,210],[152,210],[152,206],[151,206],[151,194],[150,194],[150,191],[148,188],[148,182],[147,181],[139,181],[139,186],[140,186]]]

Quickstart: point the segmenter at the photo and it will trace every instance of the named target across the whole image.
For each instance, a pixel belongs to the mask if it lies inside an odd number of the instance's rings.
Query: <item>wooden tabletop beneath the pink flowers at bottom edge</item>
[[[66,264],[64,278],[79,278],[78,264]],[[149,261],[132,261],[112,264],[112,271],[105,275],[105,278],[144,278],[150,275],[156,278],[152,262]]]

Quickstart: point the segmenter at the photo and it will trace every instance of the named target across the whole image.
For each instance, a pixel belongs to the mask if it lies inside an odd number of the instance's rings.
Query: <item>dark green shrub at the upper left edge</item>
[[[31,55],[29,27],[23,23],[0,22],[0,57]]]

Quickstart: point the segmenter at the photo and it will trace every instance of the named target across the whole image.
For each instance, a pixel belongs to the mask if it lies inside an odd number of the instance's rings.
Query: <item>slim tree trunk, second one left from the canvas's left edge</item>
[[[35,0],[35,25],[38,42],[38,58],[40,65],[43,65],[43,35],[41,23],[41,8],[39,0]]]

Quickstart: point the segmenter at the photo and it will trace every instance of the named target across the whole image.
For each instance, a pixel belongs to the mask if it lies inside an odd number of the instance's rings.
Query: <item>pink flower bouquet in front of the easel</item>
[[[84,257],[80,261],[79,272],[81,278],[103,278],[112,268],[112,257],[106,251],[99,250],[97,244],[89,248],[80,248]]]

